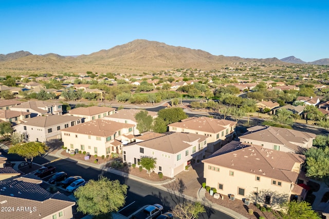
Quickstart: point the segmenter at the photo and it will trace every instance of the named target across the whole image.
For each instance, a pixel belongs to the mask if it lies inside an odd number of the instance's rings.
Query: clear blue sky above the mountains
[[[329,1],[0,0],[0,54],[90,54],[134,39],[213,55],[329,58]]]

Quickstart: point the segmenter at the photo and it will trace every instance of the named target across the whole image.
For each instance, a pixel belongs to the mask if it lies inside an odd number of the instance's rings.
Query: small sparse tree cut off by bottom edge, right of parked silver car
[[[175,217],[180,219],[197,219],[199,217],[199,213],[203,212],[206,212],[206,210],[205,207],[201,205],[201,203],[193,203],[191,201],[179,203],[173,209],[173,214]]]

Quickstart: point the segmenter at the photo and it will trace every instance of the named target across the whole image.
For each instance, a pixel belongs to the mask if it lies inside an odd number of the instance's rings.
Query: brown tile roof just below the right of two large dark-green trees
[[[215,118],[202,116],[193,117],[190,120],[169,124],[168,126],[204,131],[209,133],[218,133],[225,130],[225,126],[234,126],[235,124],[236,122],[229,120],[217,120]]]

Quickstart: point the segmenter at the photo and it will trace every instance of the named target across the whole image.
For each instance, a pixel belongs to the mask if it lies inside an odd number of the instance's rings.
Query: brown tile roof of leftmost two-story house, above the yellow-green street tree
[[[63,123],[77,121],[77,120],[81,120],[81,118],[77,116],[49,115],[49,116],[36,116],[32,118],[27,118],[26,120],[24,120],[24,123],[22,124],[26,126],[46,128]]]

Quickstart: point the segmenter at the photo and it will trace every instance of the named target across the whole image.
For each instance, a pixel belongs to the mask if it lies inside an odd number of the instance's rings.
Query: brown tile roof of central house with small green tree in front
[[[173,132],[172,134],[153,138],[152,140],[136,143],[136,145],[175,154],[191,147],[192,142],[203,142],[207,138],[207,136],[194,133]]]

